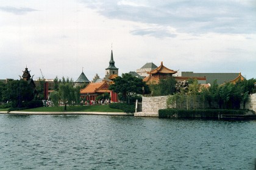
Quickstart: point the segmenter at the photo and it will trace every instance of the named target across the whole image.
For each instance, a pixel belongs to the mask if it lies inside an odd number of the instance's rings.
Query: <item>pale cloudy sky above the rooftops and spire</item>
[[[112,45],[113,44],[113,45]],[[0,0],[0,79],[103,78],[161,61],[256,78],[256,1]]]

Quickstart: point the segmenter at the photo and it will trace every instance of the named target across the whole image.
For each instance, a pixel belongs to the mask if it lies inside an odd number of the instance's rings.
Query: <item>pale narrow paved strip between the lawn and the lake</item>
[[[23,111],[0,111],[0,114],[10,115],[127,115],[133,116],[134,114],[127,114],[124,112],[23,112]]]

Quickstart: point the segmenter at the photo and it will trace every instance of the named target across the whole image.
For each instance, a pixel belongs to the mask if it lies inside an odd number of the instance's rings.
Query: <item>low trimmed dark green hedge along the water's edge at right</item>
[[[224,110],[224,109],[160,109],[159,118],[218,118],[219,115],[244,115],[246,110]]]

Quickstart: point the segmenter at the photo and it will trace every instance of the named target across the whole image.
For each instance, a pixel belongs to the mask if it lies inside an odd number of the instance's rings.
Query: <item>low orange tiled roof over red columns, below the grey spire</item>
[[[80,90],[80,94],[96,94],[96,93],[110,93],[108,90],[107,81],[102,81],[100,83],[90,83],[84,89]]]

